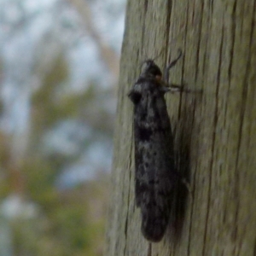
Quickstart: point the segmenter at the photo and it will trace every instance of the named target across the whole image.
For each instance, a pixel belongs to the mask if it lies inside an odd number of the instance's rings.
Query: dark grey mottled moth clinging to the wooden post
[[[134,104],[135,200],[141,209],[141,230],[148,241],[160,241],[164,236],[172,196],[180,181],[165,94],[179,90],[177,85],[167,82],[169,70],[181,56],[179,50],[177,59],[165,69],[165,79],[153,60],[144,61],[142,72],[128,94]]]

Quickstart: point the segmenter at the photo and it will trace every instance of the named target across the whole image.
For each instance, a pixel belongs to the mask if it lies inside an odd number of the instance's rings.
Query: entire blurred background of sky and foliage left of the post
[[[102,255],[125,0],[0,0],[0,256]]]

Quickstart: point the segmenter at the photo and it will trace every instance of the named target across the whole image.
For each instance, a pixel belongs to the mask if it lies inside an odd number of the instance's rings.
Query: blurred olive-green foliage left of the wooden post
[[[32,218],[16,218],[12,222],[15,255],[102,255],[108,175],[102,174],[103,178],[96,181],[60,191],[55,186],[56,180],[76,157],[57,152],[44,154],[42,142],[46,132],[66,119],[84,122],[94,131],[84,148],[89,147],[95,137],[109,137],[113,118],[102,105],[102,96],[109,92],[100,91],[91,83],[79,94],[60,94],[67,79],[68,67],[61,54],[32,96],[30,147],[15,167],[25,180],[25,201],[32,201],[38,213]],[[0,160],[6,170],[9,170],[9,154],[8,147],[0,147]],[[12,192],[10,183],[11,180],[0,176],[0,196]]]

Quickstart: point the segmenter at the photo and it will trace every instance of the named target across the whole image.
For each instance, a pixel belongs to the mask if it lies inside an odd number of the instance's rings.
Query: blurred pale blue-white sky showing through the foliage
[[[87,2],[90,4],[97,31],[105,43],[119,55],[124,33],[125,1]],[[63,84],[64,93],[79,93],[88,84],[86,81],[91,80],[105,89],[113,86],[110,84],[111,75],[102,63],[99,49],[86,32],[83,22],[83,17],[79,16],[77,10],[64,0],[0,0],[0,59],[3,69],[0,84],[3,104],[0,129],[11,135],[15,150],[26,149],[31,125],[31,99],[33,93],[41,86],[40,74],[35,74],[34,69],[38,59],[47,69],[50,67],[50,61],[60,51],[64,51],[70,73],[68,81]],[[47,70],[43,69],[43,72]],[[109,99],[106,106],[110,106],[108,110],[114,114],[113,102],[114,99]],[[50,148],[60,150],[65,147],[72,148],[75,141],[68,141],[68,134],[78,133],[79,125],[74,128],[73,124],[66,121],[66,124],[56,126],[59,130],[49,131],[49,134],[45,135],[45,143],[49,141]],[[82,137],[88,136],[86,133],[90,133],[90,127],[83,132]],[[102,149],[104,147],[105,149]],[[71,172],[77,170],[80,179],[87,163],[85,169],[88,170],[88,176],[91,176],[93,165],[90,163],[95,162],[94,158],[102,159],[102,165],[108,166],[110,170],[112,156],[109,147],[109,143],[104,140],[102,147],[96,142],[88,154],[84,154],[84,158],[75,166],[67,166],[63,173],[70,176]]]

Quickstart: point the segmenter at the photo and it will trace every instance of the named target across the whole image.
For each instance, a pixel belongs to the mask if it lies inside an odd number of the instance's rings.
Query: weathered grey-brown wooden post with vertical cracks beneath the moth
[[[256,255],[256,26],[253,0],[128,0],[114,138],[106,255]],[[180,235],[149,246],[134,203],[132,104],[141,61],[160,67],[183,50],[173,83],[203,93],[166,96],[180,170],[193,198]]]

